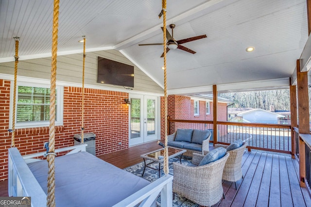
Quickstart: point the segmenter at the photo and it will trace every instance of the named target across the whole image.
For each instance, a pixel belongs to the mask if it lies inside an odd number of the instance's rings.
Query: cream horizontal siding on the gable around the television
[[[85,60],[85,84],[98,85],[112,88],[122,86],[97,83],[97,62],[98,56],[117,61],[123,64],[134,66],[134,89],[150,93],[163,94],[164,90],[143,73],[137,66],[131,63],[117,50],[105,50],[87,52]],[[57,57],[57,77],[56,80],[82,83],[83,54],[71,54]],[[1,63],[0,73],[14,75],[14,62]],[[48,79],[51,78],[51,58],[38,58],[32,60],[19,61],[18,76]]]

